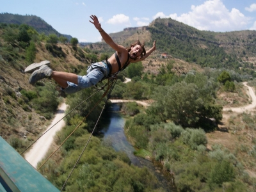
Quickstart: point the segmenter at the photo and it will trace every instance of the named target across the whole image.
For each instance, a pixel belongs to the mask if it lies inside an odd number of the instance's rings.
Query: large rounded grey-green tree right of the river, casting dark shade
[[[200,92],[194,83],[176,83],[156,88],[152,111],[184,127],[196,127],[205,118],[221,118],[221,106],[214,103],[212,95]],[[207,99],[205,99],[205,97]]]

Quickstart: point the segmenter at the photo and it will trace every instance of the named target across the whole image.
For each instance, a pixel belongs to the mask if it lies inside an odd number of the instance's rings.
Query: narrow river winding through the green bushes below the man
[[[118,104],[111,104],[102,114],[102,121],[104,125],[102,126],[102,134],[104,134],[103,139],[108,140],[110,138],[113,148],[116,151],[123,151],[127,154],[129,159],[131,159],[132,164],[143,167],[146,166],[150,172],[156,175],[161,186],[167,191],[175,191],[173,188],[172,179],[164,175],[164,172],[156,166],[156,164],[143,159],[141,157],[134,156],[134,147],[127,141],[124,134],[125,119],[120,115],[120,106]]]

